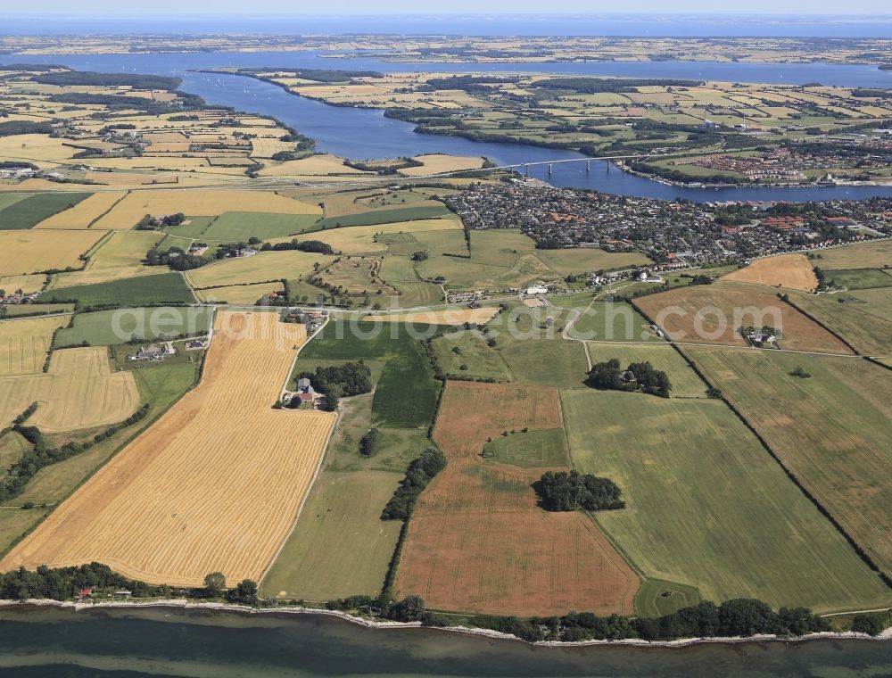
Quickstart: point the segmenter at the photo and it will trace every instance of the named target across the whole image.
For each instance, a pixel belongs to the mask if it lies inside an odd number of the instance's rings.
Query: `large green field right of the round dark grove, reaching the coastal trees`
[[[574,389],[561,404],[574,465],[623,490],[597,522],[648,578],[819,612],[892,599],[722,401]]]

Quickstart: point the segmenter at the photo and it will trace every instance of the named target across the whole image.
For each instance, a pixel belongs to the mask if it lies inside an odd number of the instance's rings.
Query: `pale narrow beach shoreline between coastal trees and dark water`
[[[373,620],[366,617],[350,615],[341,610],[329,610],[319,608],[303,608],[298,606],[288,606],[281,608],[250,608],[244,605],[233,605],[231,603],[213,603],[213,602],[194,602],[185,598],[163,599],[163,600],[145,600],[140,602],[110,600],[98,601],[91,603],[78,603],[70,600],[53,600],[53,599],[24,599],[11,600],[0,599],[0,613],[6,610],[27,609],[27,608],[55,608],[58,610],[70,610],[71,612],[84,612],[87,610],[103,610],[103,609],[129,609],[129,610],[145,610],[145,609],[169,609],[178,612],[188,611],[207,611],[222,612],[232,615],[245,616],[327,616],[341,619],[349,624],[363,626],[368,629],[375,630],[406,630],[406,629],[429,629],[433,631],[462,633],[465,635],[479,636],[490,640],[499,641],[515,641],[530,645],[531,647],[541,648],[588,648],[588,647],[626,647],[626,648],[690,648],[698,645],[720,644],[720,645],[739,645],[747,642],[766,643],[781,642],[785,644],[797,644],[808,641],[892,641],[892,626],[883,630],[880,635],[871,636],[866,633],[848,632],[821,632],[807,633],[803,636],[778,636],[769,633],[756,634],[752,636],[736,636],[736,637],[703,637],[703,638],[679,638],[674,641],[644,641],[640,638],[626,638],[617,641],[609,640],[591,640],[591,641],[536,641],[529,642],[517,638],[510,633],[501,633],[492,631],[491,629],[480,629],[469,626],[423,626],[421,622],[392,622],[388,620]]]

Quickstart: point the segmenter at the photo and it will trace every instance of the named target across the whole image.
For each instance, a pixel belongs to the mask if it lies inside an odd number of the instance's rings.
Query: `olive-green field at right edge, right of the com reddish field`
[[[859,290],[853,295],[790,294],[790,301],[846,339],[865,355],[892,355],[892,318],[883,312],[886,294]],[[842,301],[840,301],[842,300]]]

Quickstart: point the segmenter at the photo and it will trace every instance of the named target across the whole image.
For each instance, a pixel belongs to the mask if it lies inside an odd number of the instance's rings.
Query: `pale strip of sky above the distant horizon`
[[[6,4],[4,3],[0,4]],[[726,14],[890,14],[888,0],[747,0],[746,3],[716,3],[715,0],[450,0],[430,4],[424,0],[152,0],[125,3],[121,0],[32,0],[9,3],[0,8],[0,16],[195,16],[207,12],[211,16],[333,15],[333,14],[518,14],[518,13],[726,13]],[[250,9],[246,9],[250,8]]]

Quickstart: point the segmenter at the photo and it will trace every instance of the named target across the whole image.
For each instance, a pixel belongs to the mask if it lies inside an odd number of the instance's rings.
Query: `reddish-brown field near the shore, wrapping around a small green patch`
[[[536,506],[545,469],[484,460],[487,437],[562,426],[553,388],[449,382],[434,441],[449,465],[409,525],[396,589],[431,608],[524,616],[632,613],[639,580],[581,512]]]

